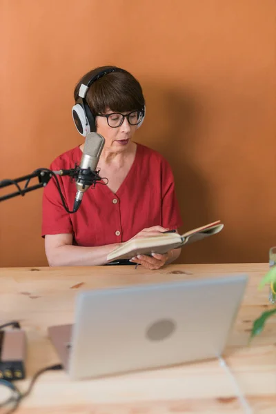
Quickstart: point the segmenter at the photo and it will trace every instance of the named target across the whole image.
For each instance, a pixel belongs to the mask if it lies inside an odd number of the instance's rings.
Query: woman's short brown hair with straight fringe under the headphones
[[[90,70],[90,72],[81,77],[75,87],[75,101],[77,101],[79,88],[85,77],[90,77],[91,79],[97,73],[109,68],[121,69],[116,66],[101,66]],[[97,114],[103,114],[107,108],[114,112],[128,112],[131,110],[142,110],[145,105],[140,83],[126,71],[111,72],[93,82],[86,93],[86,102],[94,117]]]

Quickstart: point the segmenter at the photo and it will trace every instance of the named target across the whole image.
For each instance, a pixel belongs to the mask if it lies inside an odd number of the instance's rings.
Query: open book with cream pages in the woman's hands
[[[115,259],[131,259],[137,255],[151,255],[151,253],[167,253],[172,248],[179,248],[184,244],[197,242],[219,233],[224,227],[221,221],[214,221],[206,226],[190,230],[184,235],[178,233],[160,233],[159,236],[141,237],[137,239],[130,239],[128,242],[115,248],[109,253],[107,259],[111,262]]]

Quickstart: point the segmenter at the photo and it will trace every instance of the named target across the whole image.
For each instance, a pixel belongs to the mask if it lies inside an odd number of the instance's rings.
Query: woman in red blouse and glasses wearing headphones
[[[155,150],[132,140],[145,115],[137,79],[120,68],[96,68],[77,84],[75,101],[72,112],[81,135],[95,130],[105,138],[97,168],[108,184],[89,188],[77,213],[69,214],[55,180],[50,180],[43,192],[42,224],[50,266],[103,265],[108,253],[128,239],[159,235],[182,224],[168,162]],[[74,168],[81,160],[83,146],[57,157],[50,169]],[[58,179],[68,208],[72,208],[75,182],[70,177]],[[165,255],[133,257],[130,262],[158,269],[179,254],[180,249],[175,249]]]

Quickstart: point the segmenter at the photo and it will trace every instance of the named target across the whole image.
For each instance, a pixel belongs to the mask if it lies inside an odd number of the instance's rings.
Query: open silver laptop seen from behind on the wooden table
[[[218,357],[247,275],[86,290],[75,324],[48,333],[72,379]]]

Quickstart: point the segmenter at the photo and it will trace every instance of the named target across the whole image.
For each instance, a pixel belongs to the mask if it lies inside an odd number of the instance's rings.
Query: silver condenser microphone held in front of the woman
[[[97,132],[89,132],[86,135],[81,164],[79,164],[79,174],[76,178],[77,193],[73,208],[74,212],[78,210],[81,204],[83,193],[91,185],[89,184],[89,180],[86,180],[86,177],[89,173],[95,172],[104,143],[105,139],[102,135],[97,134]]]

